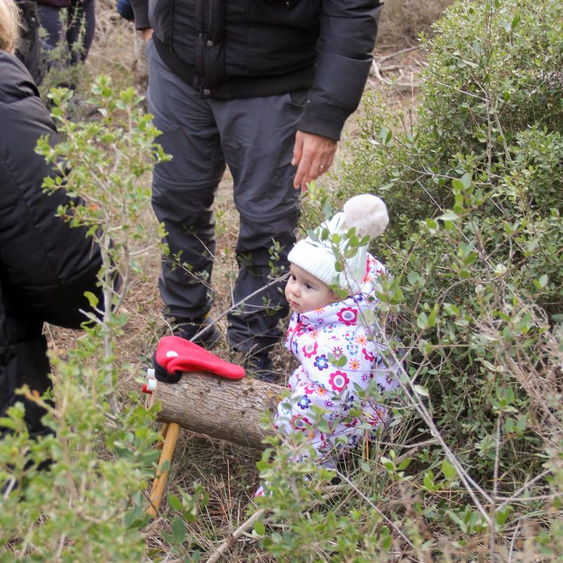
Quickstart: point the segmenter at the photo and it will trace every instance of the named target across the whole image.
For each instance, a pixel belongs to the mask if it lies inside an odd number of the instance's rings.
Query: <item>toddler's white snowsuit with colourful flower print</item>
[[[330,453],[334,445],[338,448],[348,444],[352,448],[365,434],[358,425],[367,422],[375,428],[388,419],[386,407],[369,398],[358,403],[358,388],[365,390],[372,380],[380,391],[398,386],[398,365],[391,358],[384,361],[381,354],[387,346],[377,341],[379,301],[372,282],[381,274],[387,275],[385,267],[368,253],[360,293],[301,315],[293,313],[289,323],[286,348],[301,365],[289,377],[288,387],[293,393],[289,401],[279,403],[275,424],[284,434],[310,433],[317,460],[327,467],[334,463]],[[365,320],[372,324],[365,326]],[[336,367],[334,359],[343,356],[346,363]],[[328,432],[313,428],[313,405],[324,410]],[[348,414],[350,407],[358,405],[362,407],[362,419]],[[340,437],[345,439],[336,443]]]

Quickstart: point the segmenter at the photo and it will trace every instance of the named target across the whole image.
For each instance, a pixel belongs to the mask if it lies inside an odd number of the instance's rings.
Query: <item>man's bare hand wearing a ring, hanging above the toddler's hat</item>
[[[336,153],[336,141],[298,131],[295,136],[293,160],[291,164],[297,166],[293,187],[307,189],[311,180],[317,179],[331,167]]]

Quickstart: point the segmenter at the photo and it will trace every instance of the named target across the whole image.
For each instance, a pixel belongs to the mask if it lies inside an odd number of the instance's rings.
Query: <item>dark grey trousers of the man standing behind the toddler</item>
[[[165,315],[202,317],[213,301],[213,201],[225,164],[240,214],[234,303],[268,283],[274,241],[282,247],[277,265],[287,266],[299,215],[291,158],[306,93],[202,99],[165,66],[153,42],[147,56],[148,110],[162,132],[158,142],[173,156],[153,173],[153,208],[170,249],[160,293]],[[186,267],[175,267],[173,256]],[[270,286],[228,316],[233,348],[262,350],[276,343],[282,334],[278,322],[288,312],[282,290],[283,284]]]

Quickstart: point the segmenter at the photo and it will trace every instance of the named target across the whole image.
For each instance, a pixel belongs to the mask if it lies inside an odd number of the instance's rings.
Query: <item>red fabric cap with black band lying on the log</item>
[[[243,367],[225,362],[201,346],[179,336],[164,336],[160,339],[156,348],[156,362],[169,374],[203,370],[227,379],[244,377]]]

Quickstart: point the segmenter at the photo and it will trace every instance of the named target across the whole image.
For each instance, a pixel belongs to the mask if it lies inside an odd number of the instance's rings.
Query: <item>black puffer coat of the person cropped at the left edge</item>
[[[68,201],[63,191],[47,196],[44,177],[52,175],[34,152],[37,139],[55,134],[24,65],[0,51],[0,416],[17,400],[23,384],[42,393],[47,377],[44,322],[79,328],[88,310],[84,291],[100,296],[96,274],[99,250],[84,229],[56,217]],[[25,401],[24,401],[25,403]],[[42,411],[26,405],[33,435],[42,434]],[[0,429],[1,434],[1,429]]]

